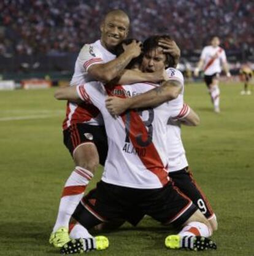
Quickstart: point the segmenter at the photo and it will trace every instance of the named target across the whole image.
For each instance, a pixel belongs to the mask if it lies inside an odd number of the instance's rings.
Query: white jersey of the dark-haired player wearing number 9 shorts
[[[184,79],[182,73],[177,69],[169,68],[167,69],[167,74],[169,75],[169,79],[179,80],[179,82],[183,85],[180,95],[176,99],[169,101],[169,107],[174,109],[177,106],[183,106]],[[183,109],[183,111],[180,113],[179,118],[183,118],[187,114],[188,107],[185,107],[185,109]],[[167,125],[167,169],[169,172],[179,171],[180,169],[188,166],[185,149],[181,139],[181,128],[178,125],[170,125],[171,119],[172,118],[169,118]]]

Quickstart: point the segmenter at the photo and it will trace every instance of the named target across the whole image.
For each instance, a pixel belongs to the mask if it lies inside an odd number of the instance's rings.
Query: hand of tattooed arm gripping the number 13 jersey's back
[[[109,113],[114,117],[117,115],[120,115],[123,112],[125,112],[126,109],[128,108],[125,103],[126,103],[125,99],[109,96],[106,99],[107,111],[109,111]]]

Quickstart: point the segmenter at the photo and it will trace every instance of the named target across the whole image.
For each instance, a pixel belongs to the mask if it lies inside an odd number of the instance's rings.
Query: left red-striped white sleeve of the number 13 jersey
[[[76,90],[82,101],[93,104],[100,111],[102,107],[105,107],[107,92],[101,82],[94,81],[85,83],[84,85],[78,85]]]

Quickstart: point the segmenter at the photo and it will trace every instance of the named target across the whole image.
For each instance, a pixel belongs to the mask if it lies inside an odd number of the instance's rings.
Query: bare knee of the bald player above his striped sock
[[[91,173],[99,166],[99,154],[94,144],[83,144],[73,154],[75,164]]]

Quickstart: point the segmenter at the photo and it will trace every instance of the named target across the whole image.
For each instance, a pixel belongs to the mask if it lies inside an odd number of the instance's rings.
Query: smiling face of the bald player
[[[120,15],[109,15],[101,24],[101,42],[109,50],[126,39],[129,20]]]

